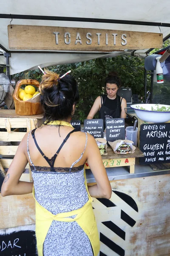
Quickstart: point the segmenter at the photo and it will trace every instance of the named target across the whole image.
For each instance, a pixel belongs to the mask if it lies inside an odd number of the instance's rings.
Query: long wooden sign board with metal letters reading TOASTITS
[[[162,34],[112,29],[8,25],[10,49],[113,51],[162,47]]]

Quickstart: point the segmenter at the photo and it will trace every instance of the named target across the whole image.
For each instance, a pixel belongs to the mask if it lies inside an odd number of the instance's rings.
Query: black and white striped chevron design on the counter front
[[[100,237],[99,256],[125,256],[126,228],[133,228],[138,207],[129,195],[113,190],[110,199],[93,198]]]

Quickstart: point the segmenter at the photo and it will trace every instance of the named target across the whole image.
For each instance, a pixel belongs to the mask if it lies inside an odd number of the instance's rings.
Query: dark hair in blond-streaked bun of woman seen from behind
[[[71,116],[73,105],[79,100],[77,81],[74,77],[66,75],[59,79],[60,76],[48,70],[45,70],[45,75],[42,76],[39,90],[46,123],[67,119]]]

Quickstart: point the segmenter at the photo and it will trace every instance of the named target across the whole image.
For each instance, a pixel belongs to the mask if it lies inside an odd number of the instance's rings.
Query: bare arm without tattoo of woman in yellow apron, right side
[[[94,198],[111,198],[111,184],[108,180],[98,145],[90,134],[88,134],[86,152],[88,165],[96,180],[96,185],[88,186],[90,195]]]

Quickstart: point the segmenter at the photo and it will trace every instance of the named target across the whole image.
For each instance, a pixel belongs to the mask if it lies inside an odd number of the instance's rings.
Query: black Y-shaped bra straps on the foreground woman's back
[[[52,157],[53,158],[53,161],[52,163],[50,162],[49,158],[45,156],[45,154],[42,152],[42,150],[40,149],[39,145],[37,144],[37,140],[35,138],[35,130],[37,128],[35,128],[34,130],[31,131],[31,135],[34,139],[34,143],[38,149],[38,151],[42,154],[42,157],[45,158],[45,160],[47,161],[47,163],[49,164],[50,167],[54,167],[54,162],[56,160],[56,157],[57,155],[59,154],[59,151],[62,149],[63,145],[66,143],[66,141],[68,140],[68,138],[70,137],[70,134],[72,134],[74,131],[77,131],[76,129],[74,129],[73,131],[69,132],[69,134],[67,134],[67,136],[65,137],[65,139],[63,140],[62,144],[60,145],[59,149],[57,150],[57,152],[54,154],[54,156]],[[51,158],[51,159],[52,159]]]

